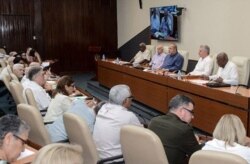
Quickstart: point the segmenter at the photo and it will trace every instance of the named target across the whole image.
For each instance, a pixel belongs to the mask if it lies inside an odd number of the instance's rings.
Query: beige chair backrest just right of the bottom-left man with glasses
[[[51,143],[49,133],[44,126],[43,118],[39,110],[28,104],[19,104],[17,106],[18,116],[24,120],[30,127],[29,140],[40,146]]]

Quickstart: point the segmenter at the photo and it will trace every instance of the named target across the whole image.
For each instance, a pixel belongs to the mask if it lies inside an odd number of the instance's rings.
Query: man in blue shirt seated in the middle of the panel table
[[[169,54],[165,57],[161,68],[167,69],[170,72],[177,72],[181,70],[184,58],[178,53],[176,44],[170,44],[168,51]]]

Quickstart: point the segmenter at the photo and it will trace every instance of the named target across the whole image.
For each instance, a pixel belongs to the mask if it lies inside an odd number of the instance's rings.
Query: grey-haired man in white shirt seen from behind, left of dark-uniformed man
[[[128,111],[131,102],[132,94],[127,85],[116,85],[110,89],[109,102],[99,110],[93,131],[101,159],[122,154],[120,145],[122,126],[142,126],[135,114]]]

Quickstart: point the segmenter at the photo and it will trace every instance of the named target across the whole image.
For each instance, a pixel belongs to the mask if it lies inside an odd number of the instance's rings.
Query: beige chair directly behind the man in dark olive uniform
[[[159,137],[151,130],[126,125],[121,129],[121,147],[126,164],[167,164]]]

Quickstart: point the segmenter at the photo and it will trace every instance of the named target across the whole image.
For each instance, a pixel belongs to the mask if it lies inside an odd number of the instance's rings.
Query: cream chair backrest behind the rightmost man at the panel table
[[[245,56],[233,56],[231,61],[237,65],[239,73],[239,84],[248,84],[250,60]]]

